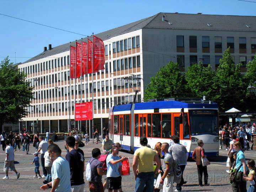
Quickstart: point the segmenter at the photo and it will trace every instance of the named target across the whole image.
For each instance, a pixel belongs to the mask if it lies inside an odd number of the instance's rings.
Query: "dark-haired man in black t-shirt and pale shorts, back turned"
[[[75,150],[75,138],[69,136],[66,138],[66,147],[68,152],[66,160],[70,167],[70,182],[72,192],[84,192],[84,157]]]

